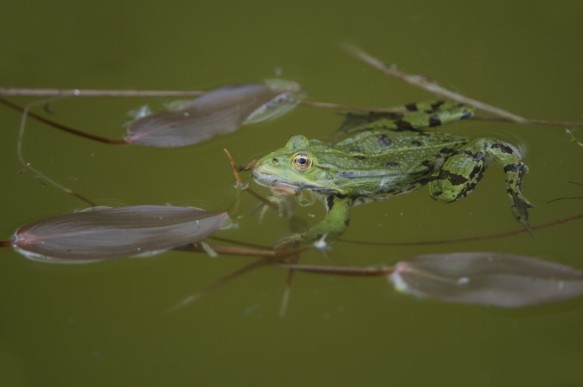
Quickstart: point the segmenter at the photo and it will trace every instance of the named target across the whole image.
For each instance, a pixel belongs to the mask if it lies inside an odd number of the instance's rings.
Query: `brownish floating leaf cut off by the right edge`
[[[583,295],[583,272],[502,253],[420,255],[399,262],[389,278],[397,290],[415,296],[508,308]]]

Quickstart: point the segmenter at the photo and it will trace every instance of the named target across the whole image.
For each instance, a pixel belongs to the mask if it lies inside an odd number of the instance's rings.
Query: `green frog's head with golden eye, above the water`
[[[305,136],[291,137],[283,148],[257,160],[255,181],[279,192],[333,190],[326,169],[318,165],[315,148]]]

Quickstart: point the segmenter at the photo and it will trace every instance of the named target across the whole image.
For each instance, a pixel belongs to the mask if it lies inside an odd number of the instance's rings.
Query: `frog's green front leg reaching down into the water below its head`
[[[326,197],[324,201],[327,210],[326,217],[302,234],[303,240],[314,241],[322,237],[334,239],[344,234],[348,228],[352,199],[332,195]]]

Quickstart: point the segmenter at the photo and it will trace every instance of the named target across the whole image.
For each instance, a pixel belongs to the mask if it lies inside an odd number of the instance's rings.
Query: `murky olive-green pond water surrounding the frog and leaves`
[[[431,98],[384,78],[340,48],[349,41],[414,73],[533,118],[581,120],[583,3],[577,1],[19,1],[2,6],[0,85],[208,89],[280,74],[311,100],[390,106]],[[31,98],[13,98],[19,103]],[[123,136],[143,100],[52,104],[68,125]],[[154,105],[163,101],[150,101]],[[0,108],[0,237],[83,205],[21,174],[20,116]],[[241,163],[297,133],[325,137],[331,111],[300,108],[275,122],[184,149],[109,147],[27,126],[26,159],[102,205],[224,209],[236,197],[222,149]],[[527,150],[532,223],[581,211],[583,149],[561,127],[463,123]],[[576,132],[583,137],[583,131]],[[269,243],[286,224],[243,196],[226,237]],[[307,212],[321,216],[319,206]],[[306,214],[308,215],[308,214]],[[579,222],[489,242],[424,247],[336,244],[303,262],[365,266],[443,251],[505,251],[583,268]],[[354,210],[347,238],[422,241],[511,230],[503,174],[493,167],[468,199],[426,190]],[[3,249],[3,386],[577,386],[583,385],[583,299],[523,310],[416,300],[384,279],[297,275],[279,317],[285,271],[267,267],[173,313],[182,298],[251,262],[168,253],[93,265],[47,265]]]

